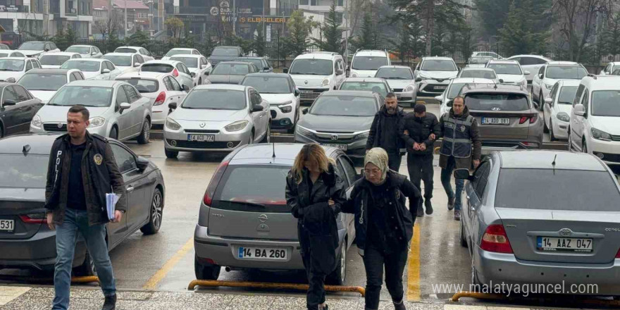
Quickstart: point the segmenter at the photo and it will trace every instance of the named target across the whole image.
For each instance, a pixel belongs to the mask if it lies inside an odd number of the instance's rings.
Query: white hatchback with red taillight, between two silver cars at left
[[[153,125],[163,125],[170,111],[168,105],[180,104],[187,96],[179,82],[168,73],[132,72],[120,75],[116,80],[128,82],[142,96],[151,100]]]

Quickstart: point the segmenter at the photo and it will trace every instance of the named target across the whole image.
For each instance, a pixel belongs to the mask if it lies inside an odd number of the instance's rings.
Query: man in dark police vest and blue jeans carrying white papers
[[[106,194],[120,195],[114,223],[127,210],[123,175],[108,141],[90,135],[89,111],[73,106],[67,113],[67,135],[58,137],[51,147],[45,188],[47,225],[56,230],[53,310],[69,306],[71,267],[75,240],[79,232],[86,241],[106,300],[102,310],[116,309],[116,280],[106,244]]]

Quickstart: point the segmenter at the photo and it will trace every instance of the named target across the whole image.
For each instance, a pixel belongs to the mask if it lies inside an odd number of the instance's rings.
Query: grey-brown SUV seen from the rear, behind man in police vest
[[[483,154],[543,147],[543,120],[523,86],[486,84],[463,88],[465,106],[476,118]]]

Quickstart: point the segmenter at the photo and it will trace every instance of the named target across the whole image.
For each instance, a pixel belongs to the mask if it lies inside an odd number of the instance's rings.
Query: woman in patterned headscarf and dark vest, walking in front
[[[404,310],[402,273],[407,264],[409,242],[413,236],[420,190],[404,175],[388,168],[387,152],[373,148],[364,158],[364,177],[357,180],[342,212],[355,214],[355,233],[359,254],[366,268],[366,310],[379,307],[379,294],[385,285],[396,310]],[[409,209],[405,206],[409,198]]]

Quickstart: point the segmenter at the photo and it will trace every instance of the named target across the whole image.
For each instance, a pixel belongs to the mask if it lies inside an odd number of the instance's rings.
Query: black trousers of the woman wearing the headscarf
[[[402,302],[402,273],[407,265],[409,249],[392,249],[385,254],[370,244],[364,249],[364,268],[366,269],[366,310],[379,308],[381,285],[383,285],[383,267],[385,266],[385,286],[392,296],[392,302]]]

